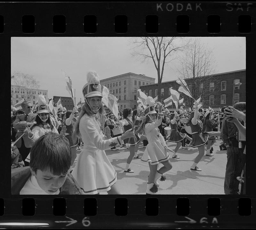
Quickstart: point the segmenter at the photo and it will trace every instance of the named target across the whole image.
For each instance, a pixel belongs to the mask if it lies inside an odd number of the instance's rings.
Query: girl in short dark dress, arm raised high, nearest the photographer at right
[[[189,119],[183,118],[182,120],[183,120],[184,125],[187,124],[191,128],[192,142],[189,144],[189,146],[191,146],[193,148],[196,148],[196,147],[198,148],[198,155],[196,156],[194,163],[192,164],[190,169],[195,170],[195,171],[202,171],[201,169],[199,169],[197,167],[197,164],[204,156],[204,145],[208,141],[209,134],[207,133],[205,139],[203,138],[203,135],[202,135],[203,127],[200,126],[200,123],[202,123],[202,122],[199,120],[199,114],[198,114],[198,110],[197,110],[198,103],[196,100],[195,100],[194,104],[195,104],[195,110],[190,113]]]

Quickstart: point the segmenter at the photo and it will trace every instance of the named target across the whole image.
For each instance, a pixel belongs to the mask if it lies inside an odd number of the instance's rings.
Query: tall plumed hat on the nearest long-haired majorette
[[[102,97],[99,75],[94,71],[90,71],[87,73],[86,78],[87,83],[82,90],[84,98]]]

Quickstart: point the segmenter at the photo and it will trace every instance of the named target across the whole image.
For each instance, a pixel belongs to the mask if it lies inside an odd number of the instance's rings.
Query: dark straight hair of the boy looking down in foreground
[[[53,175],[67,173],[71,165],[71,150],[66,137],[47,133],[37,139],[30,151],[30,168],[35,171],[49,169]]]

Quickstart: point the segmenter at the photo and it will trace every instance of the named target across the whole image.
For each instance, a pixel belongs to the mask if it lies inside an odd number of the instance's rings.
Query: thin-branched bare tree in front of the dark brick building
[[[194,38],[179,57],[180,65],[177,67],[177,72],[181,78],[185,80],[190,78],[190,92],[197,99],[201,96],[202,101],[209,101],[209,95],[214,95],[219,91],[219,83],[214,84],[210,89],[210,83],[214,82],[216,61],[212,50],[203,44],[200,38]],[[188,100],[188,101],[187,101]],[[216,100],[216,98],[214,98]],[[186,103],[192,106],[194,101],[189,98]]]

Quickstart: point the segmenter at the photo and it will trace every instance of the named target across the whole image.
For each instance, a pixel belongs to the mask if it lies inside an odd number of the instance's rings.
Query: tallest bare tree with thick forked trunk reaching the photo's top
[[[177,40],[178,39],[178,40]],[[175,52],[182,51],[187,44],[182,44],[180,37],[138,37],[131,42],[132,56],[141,62],[152,60],[157,71],[158,100],[161,101],[161,83],[166,63],[176,59]]]

